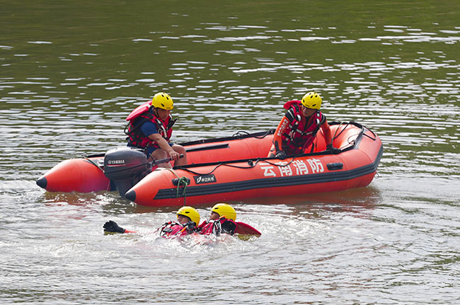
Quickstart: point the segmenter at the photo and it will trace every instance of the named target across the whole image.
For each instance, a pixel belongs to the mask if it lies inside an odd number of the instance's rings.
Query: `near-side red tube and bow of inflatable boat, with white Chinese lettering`
[[[125,197],[139,205],[159,207],[184,205],[185,200],[187,205],[199,205],[369,185],[383,152],[379,137],[355,122],[331,124],[330,129],[335,134],[334,146],[342,150],[340,154],[324,151],[326,143],[318,133],[310,154],[279,160],[260,158],[259,151],[234,161],[190,164],[173,170],[158,168],[128,190]],[[268,154],[271,139],[260,145],[264,146],[263,154]],[[253,139],[251,144],[257,142]],[[229,142],[222,152],[238,159],[238,154],[243,154],[240,149],[232,149]]]

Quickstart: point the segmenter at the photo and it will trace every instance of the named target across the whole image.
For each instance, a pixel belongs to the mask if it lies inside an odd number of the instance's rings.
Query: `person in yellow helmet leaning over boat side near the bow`
[[[275,134],[269,158],[286,159],[287,156],[304,154],[309,151],[316,133],[321,128],[327,149],[337,154],[340,149],[333,147],[326,116],[321,113],[321,96],[309,92],[302,100],[289,100],[284,104],[287,112],[282,117]],[[310,149],[313,150],[313,147]]]

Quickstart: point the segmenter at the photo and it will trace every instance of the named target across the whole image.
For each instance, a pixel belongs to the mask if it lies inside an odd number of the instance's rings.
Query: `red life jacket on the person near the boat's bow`
[[[320,110],[317,110],[314,115],[308,118],[305,124],[300,124],[301,101],[289,100],[284,104],[284,108],[288,109],[285,116],[289,120],[289,125],[287,125],[282,134],[282,150],[288,156],[302,154],[304,149],[310,146],[315,139],[319,127],[326,122],[326,116]],[[310,125],[308,125],[309,122]]]

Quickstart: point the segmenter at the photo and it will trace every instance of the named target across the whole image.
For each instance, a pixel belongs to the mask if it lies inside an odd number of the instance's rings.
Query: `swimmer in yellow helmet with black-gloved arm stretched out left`
[[[160,232],[163,237],[176,237],[192,234],[197,231],[197,224],[200,223],[200,213],[193,207],[181,207],[176,213],[177,221],[167,221],[160,226],[156,231]],[[136,231],[128,231],[118,226],[115,221],[105,222],[104,232],[108,233],[136,233]]]

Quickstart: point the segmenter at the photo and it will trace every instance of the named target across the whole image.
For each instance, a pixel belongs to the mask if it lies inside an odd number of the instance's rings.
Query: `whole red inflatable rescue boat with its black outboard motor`
[[[306,154],[287,159],[266,158],[273,132],[202,139],[181,144],[188,165],[157,168],[145,154],[120,147],[105,154],[70,159],[37,180],[50,192],[118,190],[138,205],[151,207],[200,205],[252,197],[332,192],[369,185],[383,146],[379,137],[357,122],[330,123],[333,146],[326,150],[318,132]]]

